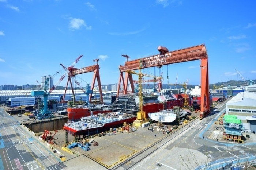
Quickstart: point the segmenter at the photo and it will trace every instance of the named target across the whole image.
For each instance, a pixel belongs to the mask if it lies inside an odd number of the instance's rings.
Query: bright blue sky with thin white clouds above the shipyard
[[[65,74],[60,66],[96,64],[101,84],[118,82],[129,60],[205,44],[209,83],[256,79],[256,1],[206,0],[0,0],[0,85],[37,84]],[[59,72],[59,73],[57,73]],[[163,83],[200,84],[200,61],[145,69]],[[56,74],[57,73],[57,74]],[[169,79],[167,79],[169,76]],[[80,74],[82,86],[93,72]],[[136,80],[138,77],[135,75]],[[145,79],[150,79],[146,78]],[[59,85],[65,86],[67,77]],[[97,83],[96,83],[97,84]]]

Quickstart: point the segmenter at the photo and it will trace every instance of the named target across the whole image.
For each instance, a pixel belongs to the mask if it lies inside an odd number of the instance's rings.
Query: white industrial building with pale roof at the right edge
[[[226,103],[226,114],[241,119],[245,133],[256,132],[256,93],[240,92]]]

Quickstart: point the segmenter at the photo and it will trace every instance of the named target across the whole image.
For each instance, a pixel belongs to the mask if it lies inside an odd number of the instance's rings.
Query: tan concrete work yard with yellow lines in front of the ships
[[[151,127],[154,129],[153,131],[148,130],[148,128]],[[167,128],[171,128],[171,126],[168,125]],[[86,169],[113,169],[115,166],[139,152],[146,150],[150,146],[154,146],[155,143],[167,136],[169,135],[163,134],[163,131],[157,131],[156,123],[146,128],[138,127],[136,131],[130,133],[126,131],[116,133],[109,132],[109,134],[101,137],[95,136],[88,138],[88,140],[93,139],[98,143],[98,146],[94,146],[92,143],[91,146],[89,146],[89,151],[75,147],[71,149],[74,154],[64,152],[67,160],[63,163],[67,167],[76,165],[76,169],[83,169],[84,165],[86,165]],[[54,143],[62,146],[64,144],[65,131],[58,131],[56,137],[58,139],[55,140]],[[68,138],[69,142],[74,139],[70,134],[68,134]],[[72,159],[74,157],[75,159]],[[127,165],[127,167],[129,167],[129,165]]]

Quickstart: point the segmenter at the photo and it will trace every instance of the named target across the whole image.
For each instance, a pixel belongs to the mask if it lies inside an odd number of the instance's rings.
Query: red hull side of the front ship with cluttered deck
[[[133,121],[136,119],[137,119],[137,117],[131,117],[128,119],[123,119],[123,120],[114,121],[111,123],[106,123],[102,127],[89,128],[89,129],[85,129],[85,130],[75,130],[75,129],[70,128],[65,125],[64,125],[64,128],[69,134],[72,134],[72,135],[73,134],[74,135],[94,135],[94,134],[98,134],[101,132],[109,131],[110,128],[113,129],[113,128],[121,127],[121,126],[123,126],[124,122],[127,124],[133,123]]]

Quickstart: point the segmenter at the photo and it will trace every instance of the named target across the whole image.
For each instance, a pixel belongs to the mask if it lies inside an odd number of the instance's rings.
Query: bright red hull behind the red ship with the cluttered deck
[[[93,115],[109,112],[109,110],[90,110],[89,108],[67,108],[67,111],[68,120],[80,120],[81,117],[91,116],[91,111],[93,111]]]

